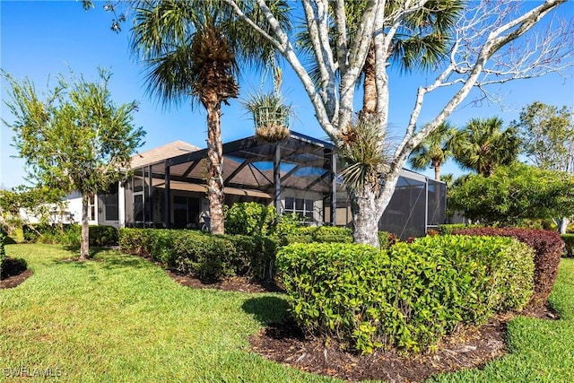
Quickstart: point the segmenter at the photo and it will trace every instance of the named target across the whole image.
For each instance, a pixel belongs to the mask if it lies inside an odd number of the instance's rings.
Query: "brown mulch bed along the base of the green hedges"
[[[178,283],[193,288],[233,292],[282,292],[280,283],[261,285],[247,278],[233,277],[216,283],[202,283],[188,275],[167,272]],[[506,353],[506,324],[516,314],[491,318],[480,327],[466,327],[446,336],[435,353],[414,356],[396,350],[378,350],[371,355],[341,351],[341,345],[326,339],[306,338],[291,319],[271,324],[251,336],[251,350],[271,361],[347,381],[382,379],[390,382],[420,382],[433,374],[483,367]],[[528,307],[520,315],[556,319],[549,307]]]

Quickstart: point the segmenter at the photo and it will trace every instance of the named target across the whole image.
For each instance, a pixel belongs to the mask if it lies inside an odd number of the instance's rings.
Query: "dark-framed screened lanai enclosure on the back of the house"
[[[223,144],[225,205],[258,202],[309,225],[351,226],[333,144],[291,132],[277,143],[248,137]],[[126,182],[126,226],[201,228],[209,220],[207,150],[135,168]],[[421,236],[445,220],[446,187],[403,170],[379,229]]]

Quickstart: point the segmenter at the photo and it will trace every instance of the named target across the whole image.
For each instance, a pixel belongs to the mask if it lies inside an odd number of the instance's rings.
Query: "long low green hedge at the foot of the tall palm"
[[[120,229],[119,245],[129,253],[152,257],[162,265],[204,281],[244,275],[274,276],[276,242],[263,236],[213,236],[202,231]]]

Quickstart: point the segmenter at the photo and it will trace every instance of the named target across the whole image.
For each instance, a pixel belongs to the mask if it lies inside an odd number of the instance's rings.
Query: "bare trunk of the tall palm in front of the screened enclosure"
[[[212,234],[224,234],[223,203],[223,147],[221,110],[222,102],[215,92],[205,97],[207,109],[207,159],[208,159],[208,195],[209,213],[211,216],[210,231]]]

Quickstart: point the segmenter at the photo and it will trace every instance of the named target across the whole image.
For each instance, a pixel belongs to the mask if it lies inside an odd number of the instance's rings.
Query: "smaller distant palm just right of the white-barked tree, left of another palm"
[[[455,134],[455,128],[448,122],[437,127],[422,143],[414,148],[409,162],[414,170],[424,170],[429,164],[434,168],[434,178],[440,179],[440,167],[453,152],[450,149],[450,140]]]

